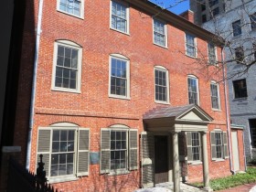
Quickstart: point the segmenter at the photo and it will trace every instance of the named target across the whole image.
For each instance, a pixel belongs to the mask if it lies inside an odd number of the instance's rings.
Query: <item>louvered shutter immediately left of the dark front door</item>
[[[154,135],[143,132],[141,134],[141,145],[142,184],[144,188],[154,187]]]

